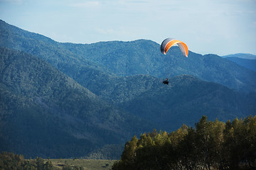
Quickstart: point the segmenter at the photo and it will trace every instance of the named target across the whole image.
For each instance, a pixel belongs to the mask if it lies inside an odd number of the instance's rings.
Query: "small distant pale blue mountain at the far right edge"
[[[240,57],[227,57],[227,60],[230,60],[231,62],[235,62],[236,64],[245,67],[247,69],[251,69],[252,71],[256,72],[256,60],[252,59],[243,59]]]

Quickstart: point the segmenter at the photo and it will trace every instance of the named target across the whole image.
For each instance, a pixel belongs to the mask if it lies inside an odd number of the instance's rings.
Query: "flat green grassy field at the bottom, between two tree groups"
[[[48,161],[48,159],[45,159]],[[63,169],[63,166],[78,166],[83,170],[108,170],[112,169],[112,165],[116,160],[101,159],[50,159],[53,166]]]

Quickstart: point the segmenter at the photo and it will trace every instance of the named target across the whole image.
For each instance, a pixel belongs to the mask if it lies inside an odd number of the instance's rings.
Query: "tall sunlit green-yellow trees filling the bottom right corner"
[[[134,136],[112,169],[256,169],[256,116]]]

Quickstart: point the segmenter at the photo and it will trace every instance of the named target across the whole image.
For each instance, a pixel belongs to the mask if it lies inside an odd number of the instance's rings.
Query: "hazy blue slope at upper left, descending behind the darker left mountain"
[[[81,67],[107,72],[107,69],[102,69],[99,64],[85,60],[82,56],[66,49],[65,43],[55,42],[43,35],[16,28],[1,20],[0,30],[0,47],[20,50],[40,57],[69,76],[79,72]]]

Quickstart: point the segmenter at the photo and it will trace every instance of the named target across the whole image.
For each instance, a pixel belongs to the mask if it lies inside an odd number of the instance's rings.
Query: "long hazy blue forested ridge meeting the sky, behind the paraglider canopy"
[[[92,44],[60,43],[43,35],[30,33],[0,21],[0,46],[22,50],[41,57],[53,67],[78,81],[93,93],[111,84],[102,79],[111,76],[147,74],[153,77],[174,77],[191,74],[198,79],[213,81],[239,91],[256,91],[256,73],[223,59],[218,55],[199,55],[189,52],[182,57],[178,47],[161,55],[160,45],[151,40],[131,42],[97,42]],[[90,69],[91,74],[83,74]],[[96,84],[90,89],[87,81]]]

